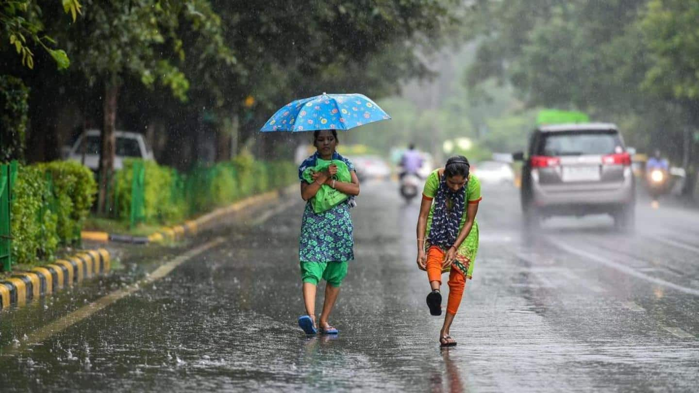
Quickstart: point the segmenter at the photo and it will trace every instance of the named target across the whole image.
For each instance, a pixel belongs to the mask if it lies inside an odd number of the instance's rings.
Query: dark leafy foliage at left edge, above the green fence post
[[[0,75],[0,162],[24,157],[29,89],[22,80]]]

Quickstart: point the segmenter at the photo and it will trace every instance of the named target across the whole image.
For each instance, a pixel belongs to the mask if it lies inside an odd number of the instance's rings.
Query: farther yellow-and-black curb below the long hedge
[[[226,206],[218,208],[211,213],[197,217],[194,220],[186,221],[184,224],[175,225],[174,227],[164,227],[159,231],[150,234],[149,236],[129,236],[120,234],[108,234],[107,232],[99,231],[82,231],[82,240],[99,241],[107,243],[110,241],[120,243],[161,243],[164,241],[178,241],[187,236],[194,236],[201,229],[206,229],[212,222],[218,218],[231,213],[237,213],[246,208],[251,208],[261,203],[276,201],[280,198],[280,191],[271,191],[264,194],[255,195]]]

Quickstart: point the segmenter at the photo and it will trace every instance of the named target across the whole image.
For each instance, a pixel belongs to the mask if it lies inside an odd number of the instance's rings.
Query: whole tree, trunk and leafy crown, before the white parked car
[[[187,55],[182,50],[183,31],[224,45],[219,20],[206,0],[84,3],[84,20],[70,31],[71,53],[89,84],[101,85],[104,92],[98,199],[98,210],[103,211],[114,167],[117,99],[124,79],[139,78],[148,87],[159,82],[186,101],[189,80],[177,65]],[[220,52],[231,62],[235,59],[228,50]]]

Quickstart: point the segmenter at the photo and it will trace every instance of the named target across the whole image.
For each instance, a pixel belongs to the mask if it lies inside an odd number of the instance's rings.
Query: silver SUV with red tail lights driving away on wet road
[[[521,176],[526,224],[553,215],[607,213],[620,229],[635,222],[635,180],[631,158],[617,126],[608,123],[556,124],[529,138]]]

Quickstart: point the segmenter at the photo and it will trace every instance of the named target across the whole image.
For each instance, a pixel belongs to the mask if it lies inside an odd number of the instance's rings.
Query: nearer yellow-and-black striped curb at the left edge
[[[52,264],[13,274],[0,281],[0,309],[52,294],[74,283],[110,270],[110,255],[103,248],[87,250]]]

